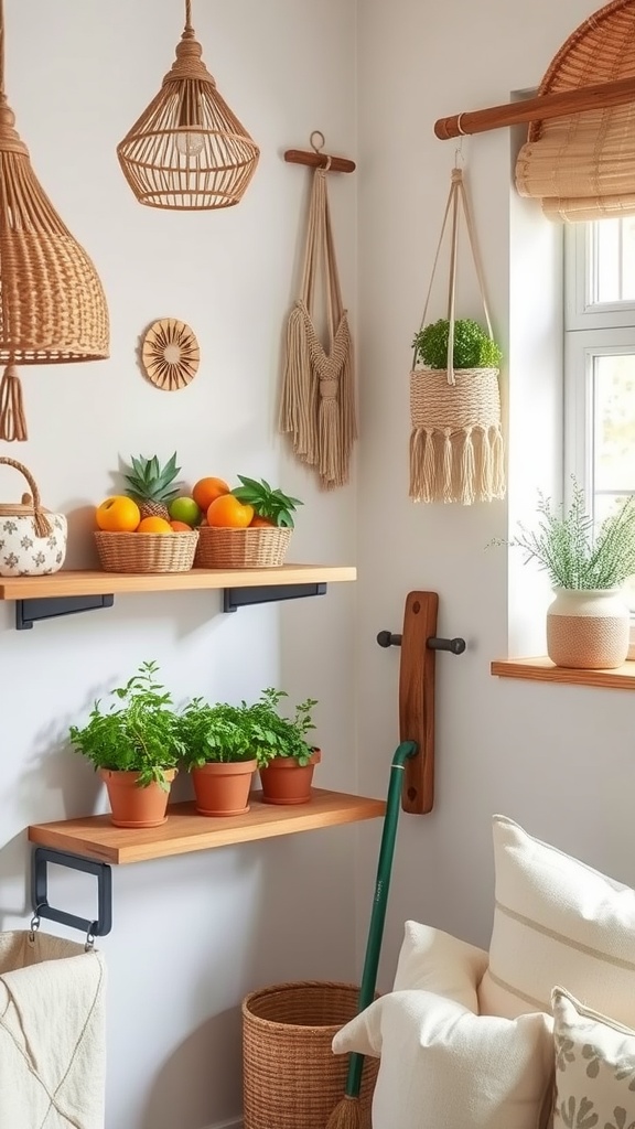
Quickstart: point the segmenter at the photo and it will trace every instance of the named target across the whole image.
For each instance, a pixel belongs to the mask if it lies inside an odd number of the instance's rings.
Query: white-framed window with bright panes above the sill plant
[[[599,524],[635,493],[635,217],[572,225],[565,250],[565,479]]]

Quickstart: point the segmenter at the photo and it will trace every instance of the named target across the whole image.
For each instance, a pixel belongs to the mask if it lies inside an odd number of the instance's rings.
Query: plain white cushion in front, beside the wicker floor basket
[[[338,1032],[333,1051],[381,1056],[373,1129],[538,1129],[550,1110],[551,1018],[480,1017],[397,991]]]

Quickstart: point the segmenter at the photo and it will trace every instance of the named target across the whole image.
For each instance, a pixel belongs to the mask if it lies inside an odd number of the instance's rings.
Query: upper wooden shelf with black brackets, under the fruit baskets
[[[112,607],[114,596],[145,592],[224,589],[225,612],[246,604],[321,596],[327,584],[355,580],[357,570],[339,564],[280,564],[276,568],[199,569],[190,572],[104,572],[76,570],[53,576],[0,577],[0,599],[16,601],[16,627],[40,620]]]

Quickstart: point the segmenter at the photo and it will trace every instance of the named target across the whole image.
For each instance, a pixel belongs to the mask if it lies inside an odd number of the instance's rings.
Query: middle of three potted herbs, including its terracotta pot
[[[179,720],[183,764],[192,776],[197,812],[243,815],[256,770],[245,704],[188,702]]]

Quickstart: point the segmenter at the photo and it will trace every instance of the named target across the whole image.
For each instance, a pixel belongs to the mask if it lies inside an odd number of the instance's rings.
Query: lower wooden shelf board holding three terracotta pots
[[[250,803],[245,815],[223,819],[199,815],[192,802],[171,804],[166,823],[134,831],[113,826],[108,815],[38,823],[28,829],[28,838],[41,847],[122,865],[358,823],[377,819],[385,812],[382,799],[321,788],[313,789],[308,804],[289,807],[263,804],[260,791],[252,795]]]

